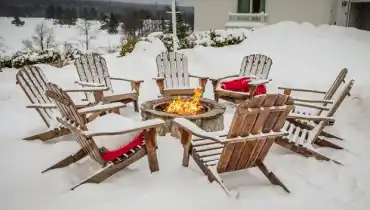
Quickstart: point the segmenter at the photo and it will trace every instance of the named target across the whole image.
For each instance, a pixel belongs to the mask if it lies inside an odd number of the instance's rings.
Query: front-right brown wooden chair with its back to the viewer
[[[208,180],[217,181],[228,195],[237,193],[227,189],[218,174],[253,167],[289,192],[263,161],[275,139],[287,134],[282,127],[293,108],[291,96],[283,94],[258,95],[244,101],[237,105],[226,138],[205,132],[187,119],[175,119],[184,147],[182,165],[187,167],[192,156]],[[192,139],[192,135],[202,139]]]

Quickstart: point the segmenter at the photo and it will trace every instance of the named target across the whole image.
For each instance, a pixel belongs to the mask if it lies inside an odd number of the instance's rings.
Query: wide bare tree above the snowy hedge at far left
[[[55,35],[53,28],[49,28],[44,22],[38,24],[35,28],[35,35],[31,39],[22,41],[26,49],[35,51],[44,51],[54,47]]]

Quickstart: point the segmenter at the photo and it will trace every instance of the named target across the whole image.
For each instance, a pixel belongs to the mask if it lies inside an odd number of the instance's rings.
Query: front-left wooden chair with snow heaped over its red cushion
[[[145,155],[149,161],[150,171],[155,172],[159,170],[156,154],[156,128],[164,124],[163,120],[154,119],[136,122],[122,115],[108,113],[86,124],[76,114],[78,110],[69,95],[57,85],[48,83],[46,95],[55,102],[61,112],[62,117],[57,117],[58,122],[73,133],[81,149],[74,155],[66,157],[44,170],[43,173],[51,169],[66,167],[89,155],[97,163],[101,164],[102,168],[74,186],[71,189],[73,190],[84,183],[100,183]],[[109,105],[106,104],[106,106]],[[109,126],[107,127],[106,125]],[[104,159],[104,155],[108,151],[104,146],[98,147],[98,142],[100,142],[100,145],[104,145],[104,142],[123,141],[124,134],[136,131],[143,132],[144,139],[142,141],[138,139],[139,141],[132,145],[131,142],[128,145],[129,148],[125,147],[126,152],[120,153],[112,160]]]

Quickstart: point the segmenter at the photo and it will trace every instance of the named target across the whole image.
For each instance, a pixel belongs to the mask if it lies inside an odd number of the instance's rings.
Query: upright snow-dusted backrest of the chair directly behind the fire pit
[[[158,77],[164,77],[164,87],[188,88],[188,59],[182,53],[162,52],[156,57]]]

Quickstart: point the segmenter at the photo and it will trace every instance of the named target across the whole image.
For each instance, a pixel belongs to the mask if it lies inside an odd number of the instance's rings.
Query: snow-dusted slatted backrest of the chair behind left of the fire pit
[[[81,81],[103,84],[109,88],[104,91],[105,94],[113,93],[107,62],[102,56],[95,53],[85,54],[76,59],[74,65]]]

